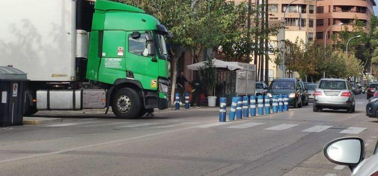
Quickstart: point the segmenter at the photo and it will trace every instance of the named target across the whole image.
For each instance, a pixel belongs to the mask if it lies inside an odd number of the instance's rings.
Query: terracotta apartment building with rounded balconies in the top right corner
[[[365,30],[370,30],[370,19],[374,15],[374,0],[318,0],[317,1],[317,33],[318,43],[324,43],[325,37],[328,44],[332,43],[331,37],[347,26],[352,30],[351,22],[356,18],[365,25]],[[343,26],[335,25],[343,23]],[[335,25],[335,26],[332,26]],[[332,27],[331,27],[332,26]],[[326,31],[328,30],[327,36]]]

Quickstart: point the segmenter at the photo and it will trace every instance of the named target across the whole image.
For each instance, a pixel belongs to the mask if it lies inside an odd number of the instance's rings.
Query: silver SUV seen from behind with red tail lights
[[[354,112],[354,93],[347,80],[327,78],[320,81],[318,89],[314,92],[313,112],[324,108]]]

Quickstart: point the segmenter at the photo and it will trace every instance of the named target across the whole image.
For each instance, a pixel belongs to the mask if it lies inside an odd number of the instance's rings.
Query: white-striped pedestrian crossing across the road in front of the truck
[[[228,122],[176,122],[176,123],[164,123],[164,122],[104,122],[100,120],[95,121],[77,121],[69,123],[57,123],[57,124],[47,124],[40,125],[41,127],[78,127],[78,128],[112,128],[112,129],[132,129],[132,128],[177,128],[177,127],[190,127],[190,128],[225,128],[225,129],[258,129],[267,131],[284,131],[289,129],[296,129],[300,132],[306,133],[319,133],[328,129],[332,129],[333,126],[328,125],[314,125],[310,126],[308,124],[277,124],[276,122],[250,122],[244,121],[228,121]],[[333,128],[340,130],[340,134],[359,134],[366,130],[363,127],[347,127],[347,128]]]

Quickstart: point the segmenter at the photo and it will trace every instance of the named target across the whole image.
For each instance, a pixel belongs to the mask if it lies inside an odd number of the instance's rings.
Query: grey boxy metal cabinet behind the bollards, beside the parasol
[[[236,70],[236,94],[238,96],[255,95],[256,65],[236,62],[243,69]]]

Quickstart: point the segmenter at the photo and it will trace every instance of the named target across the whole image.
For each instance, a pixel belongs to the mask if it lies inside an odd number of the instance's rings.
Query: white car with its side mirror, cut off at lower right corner
[[[349,166],[351,176],[378,176],[377,147],[375,145],[374,154],[365,159],[363,139],[343,137],[329,142],[324,147],[324,155],[333,163]]]

